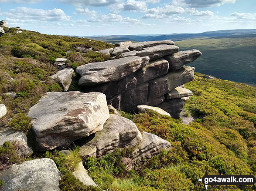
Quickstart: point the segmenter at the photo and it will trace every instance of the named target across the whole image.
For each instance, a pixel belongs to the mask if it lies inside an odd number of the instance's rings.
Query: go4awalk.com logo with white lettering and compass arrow
[[[208,185],[239,185],[240,187],[243,185],[242,187],[245,188],[247,185],[255,184],[255,177],[253,175],[208,175],[206,170],[204,177],[198,181],[205,184],[206,189]]]

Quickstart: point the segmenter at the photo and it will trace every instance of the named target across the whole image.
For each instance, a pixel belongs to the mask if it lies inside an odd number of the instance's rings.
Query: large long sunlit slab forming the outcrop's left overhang
[[[79,66],[76,72],[80,74],[80,86],[92,86],[105,82],[123,79],[129,74],[148,64],[149,57],[129,56],[108,60],[100,63],[89,63]]]

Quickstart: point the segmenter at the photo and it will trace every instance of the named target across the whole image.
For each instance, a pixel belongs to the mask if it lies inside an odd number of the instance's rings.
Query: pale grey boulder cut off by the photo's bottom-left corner
[[[4,191],[60,191],[61,173],[50,158],[25,161],[0,171]]]

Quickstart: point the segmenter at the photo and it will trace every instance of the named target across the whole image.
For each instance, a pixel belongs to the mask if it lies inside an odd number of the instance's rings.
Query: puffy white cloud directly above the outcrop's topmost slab
[[[145,14],[142,18],[144,19],[161,19],[167,18],[168,16],[175,14],[183,14],[185,11],[182,7],[175,7],[173,5],[166,5],[164,7],[155,7],[149,9],[147,14]]]

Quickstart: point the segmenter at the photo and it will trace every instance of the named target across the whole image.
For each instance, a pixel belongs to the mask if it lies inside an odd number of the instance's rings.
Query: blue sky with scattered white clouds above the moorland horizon
[[[0,20],[77,36],[255,29],[256,0],[0,0]]]

